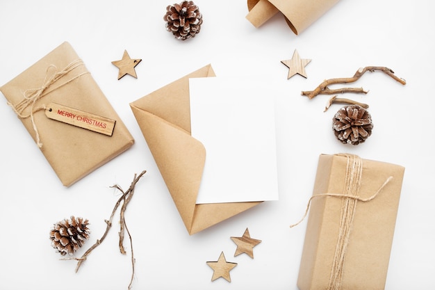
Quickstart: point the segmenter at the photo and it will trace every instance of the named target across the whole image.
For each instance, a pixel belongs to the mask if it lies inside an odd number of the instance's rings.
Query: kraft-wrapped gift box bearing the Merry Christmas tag
[[[63,42],[0,90],[65,186],[74,184],[134,143],[68,42]],[[46,115],[50,104],[110,119],[115,127],[110,133],[101,134],[52,120]],[[84,120],[92,119],[81,118],[81,123]]]

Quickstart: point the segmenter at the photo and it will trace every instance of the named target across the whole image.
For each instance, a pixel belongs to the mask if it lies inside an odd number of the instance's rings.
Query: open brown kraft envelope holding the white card
[[[209,76],[215,73],[206,65],[130,104],[189,234],[261,203],[196,204],[206,148],[190,135],[189,79]]]

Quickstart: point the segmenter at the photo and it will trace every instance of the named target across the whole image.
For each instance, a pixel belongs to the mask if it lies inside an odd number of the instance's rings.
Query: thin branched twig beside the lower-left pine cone
[[[129,235],[129,239],[130,239],[131,264],[132,264],[132,267],[133,267],[133,271],[132,271],[132,274],[131,274],[131,280],[130,280],[130,284],[129,284],[129,289],[131,289],[131,284],[133,283],[133,277],[134,277],[134,273],[135,273],[135,267],[134,267],[135,259],[134,259],[134,256],[133,256],[133,241],[131,239],[131,234],[129,232],[129,229],[126,227],[124,212],[126,210],[127,204],[129,204],[131,198],[133,198],[133,193],[134,193],[134,188],[136,186],[136,183],[138,183],[140,177],[145,175],[145,172],[147,172],[147,171],[146,170],[142,171],[140,173],[140,175],[138,175],[137,177],[135,175],[134,179],[133,179],[133,182],[131,182],[130,188],[127,191],[125,191],[125,192],[118,185],[111,186],[112,188],[117,188],[119,191],[121,191],[122,195],[117,200],[117,202],[115,204],[115,207],[113,208],[112,214],[110,214],[109,220],[104,220],[106,222],[106,231],[104,232],[103,236],[101,236],[101,239],[97,239],[95,244],[93,244],[88,250],[86,250],[86,252],[83,254],[83,256],[81,256],[81,258],[76,258],[76,260],[78,261],[77,262],[77,266],[76,266],[76,272],[79,271],[79,268],[80,268],[81,264],[83,263],[83,261],[85,261],[87,259],[88,255],[90,255],[92,250],[97,248],[104,241],[104,239],[106,239],[108,231],[109,231],[110,227],[112,227],[113,216],[115,216],[115,212],[117,211],[117,208],[120,207],[121,202],[123,202],[122,207],[121,207],[121,213],[120,213],[120,232],[119,232],[119,235],[120,235],[120,252],[122,254],[126,254],[126,252],[124,250],[124,246],[123,246],[124,230],[126,230],[127,234]]]

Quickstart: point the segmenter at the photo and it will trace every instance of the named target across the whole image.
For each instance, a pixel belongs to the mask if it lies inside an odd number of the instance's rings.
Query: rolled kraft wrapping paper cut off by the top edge
[[[249,13],[246,18],[258,28],[281,12],[290,29],[297,35],[338,1],[340,0],[247,0]]]

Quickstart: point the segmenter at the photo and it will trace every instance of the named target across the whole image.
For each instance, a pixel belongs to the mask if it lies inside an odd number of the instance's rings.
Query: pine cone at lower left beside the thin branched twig
[[[51,228],[51,246],[58,250],[60,255],[74,254],[89,239],[88,225],[88,220],[74,216],[71,216],[71,220],[61,220]]]

